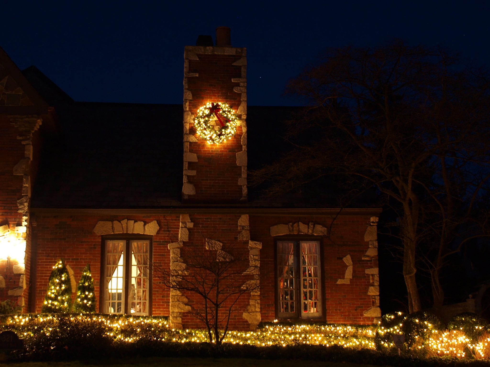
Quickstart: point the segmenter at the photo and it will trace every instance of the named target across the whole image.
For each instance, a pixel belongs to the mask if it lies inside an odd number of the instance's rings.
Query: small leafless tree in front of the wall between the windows
[[[239,299],[258,290],[249,271],[249,251],[244,245],[224,245],[205,239],[205,246],[189,244],[181,249],[179,269],[153,265],[153,276],[164,288],[188,296],[190,313],[206,326],[210,343],[221,345]],[[196,297],[192,297],[192,296]]]

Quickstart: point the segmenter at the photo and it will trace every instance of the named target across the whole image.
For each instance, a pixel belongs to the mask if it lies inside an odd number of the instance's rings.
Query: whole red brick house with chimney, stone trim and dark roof
[[[264,115],[278,121],[286,109],[247,107],[246,48],[232,47],[226,28],[209,40],[185,46],[183,107],[75,102],[0,49],[2,300],[40,312],[63,258],[73,286],[90,263],[99,313],[202,327],[191,312],[199,299],[160,288],[150,265],[185,269],[190,254],[233,245],[249,261],[237,281],[256,287],[235,304],[231,328],[381,316],[380,210],[249,195],[248,170],[277,140],[261,130]]]

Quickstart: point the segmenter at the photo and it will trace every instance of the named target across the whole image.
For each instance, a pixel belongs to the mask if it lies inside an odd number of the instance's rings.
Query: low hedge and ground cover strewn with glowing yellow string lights
[[[183,356],[305,359],[391,366],[484,366],[490,361],[489,325],[461,315],[447,325],[433,315],[401,313],[378,326],[266,323],[256,331],[230,331],[218,348],[205,330],[172,329],[163,317],[98,314],[5,315],[1,330],[24,339],[22,360],[114,356]],[[398,356],[392,335],[404,332]]]

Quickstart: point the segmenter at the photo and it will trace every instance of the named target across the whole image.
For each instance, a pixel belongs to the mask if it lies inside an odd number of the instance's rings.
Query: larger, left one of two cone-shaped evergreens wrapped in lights
[[[49,284],[41,312],[70,312],[72,308],[72,285],[63,260],[58,260],[49,275]]]

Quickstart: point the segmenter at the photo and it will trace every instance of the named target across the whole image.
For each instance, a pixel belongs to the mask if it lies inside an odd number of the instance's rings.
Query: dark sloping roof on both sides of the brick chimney
[[[59,131],[44,142],[32,208],[182,206],[182,105],[73,102],[35,67],[23,73],[55,107]],[[299,109],[248,106],[249,171],[291,149],[282,138],[282,121]],[[249,187],[249,202],[240,206],[338,207],[339,187],[324,181],[283,198],[262,197],[259,189]]]

